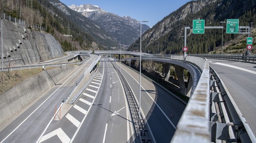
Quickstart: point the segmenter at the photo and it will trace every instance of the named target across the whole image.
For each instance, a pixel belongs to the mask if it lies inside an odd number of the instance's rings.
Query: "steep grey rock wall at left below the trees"
[[[3,53],[4,67],[35,64],[64,56],[60,43],[52,35],[7,20],[3,22]]]

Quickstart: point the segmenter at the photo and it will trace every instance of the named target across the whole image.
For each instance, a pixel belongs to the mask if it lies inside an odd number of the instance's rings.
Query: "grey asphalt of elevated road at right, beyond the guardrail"
[[[208,59],[256,136],[256,64]]]

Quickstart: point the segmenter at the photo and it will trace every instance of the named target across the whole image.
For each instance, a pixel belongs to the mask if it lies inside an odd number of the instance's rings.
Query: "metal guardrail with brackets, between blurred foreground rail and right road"
[[[217,124],[214,117],[211,119],[212,142],[219,139],[227,142],[256,143],[256,137],[252,133],[252,130],[246,122],[244,116],[241,114],[238,106],[235,104],[233,98],[228,92],[227,87],[219,78],[219,75],[215,72],[215,70],[211,68],[210,71],[215,79],[215,82],[213,82],[215,84],[213,84],[213,86],[217,88],[215,92],[212,92],[211,102],[218,102],[218,108],[222,109],[220,113],[222,115],[221,120],[218,121]]]

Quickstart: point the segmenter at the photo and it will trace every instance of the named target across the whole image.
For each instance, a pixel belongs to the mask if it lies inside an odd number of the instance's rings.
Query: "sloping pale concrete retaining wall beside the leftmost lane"
[[[51,75],[46,77],[44,71],[30,77],[22,83],[0,95],[0,127],[9,122],[15,115],[40,97],[45,91],[66,77],[77,66],[67,66],[47,70]]]

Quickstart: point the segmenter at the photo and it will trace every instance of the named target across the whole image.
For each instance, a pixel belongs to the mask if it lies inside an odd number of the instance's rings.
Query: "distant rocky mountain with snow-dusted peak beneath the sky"
[[[71,5],[70,9],[75,10],[92,21],[95,21],[110,35],[117,39],[117,42],[123,45],[131,45],[140,35],[140,24],[130,16],[120,17],[101,9],[98,6],[84,4],[80,6]],[[150,29],[146,24],[142,24],[142,33]]]

